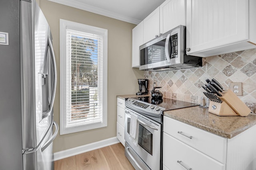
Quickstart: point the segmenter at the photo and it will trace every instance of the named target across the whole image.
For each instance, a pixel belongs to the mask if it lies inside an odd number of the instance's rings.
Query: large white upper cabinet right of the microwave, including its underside
[[[208,57],[255,48],[255,7],[255,0],[188,0],[186,53]]]

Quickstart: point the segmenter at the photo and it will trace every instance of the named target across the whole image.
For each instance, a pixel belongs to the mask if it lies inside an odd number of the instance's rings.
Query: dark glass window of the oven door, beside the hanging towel
[[[153,134],[139,124],[138,144],[152,155]]]

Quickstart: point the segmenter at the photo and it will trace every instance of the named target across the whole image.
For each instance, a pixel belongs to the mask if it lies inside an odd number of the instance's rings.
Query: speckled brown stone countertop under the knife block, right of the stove
[[[229,139],[256,125],[256,114],[218,116],[198,106],[164,111],[164,115]]]

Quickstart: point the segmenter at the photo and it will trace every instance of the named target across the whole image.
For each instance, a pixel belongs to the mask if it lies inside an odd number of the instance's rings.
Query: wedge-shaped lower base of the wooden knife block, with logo
[[[238,116],[236,112],[224,101],[222,103],[210,102],[208,111],[219,116]]]

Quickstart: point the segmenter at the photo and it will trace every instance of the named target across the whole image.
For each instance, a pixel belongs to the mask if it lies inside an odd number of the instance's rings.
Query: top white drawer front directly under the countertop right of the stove
[[[164,132],[200,152],[226,163],[227,139],[164,116]],[[179,132],[179,133],[178,133]],[[188,137],[186,137],[186,136]],[[192,137],[190,139],[189,137]]]

